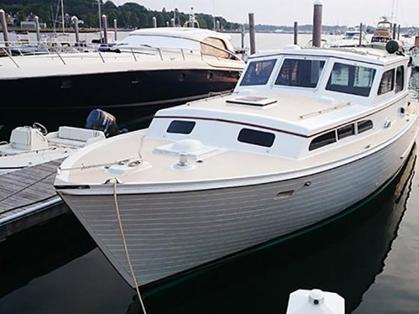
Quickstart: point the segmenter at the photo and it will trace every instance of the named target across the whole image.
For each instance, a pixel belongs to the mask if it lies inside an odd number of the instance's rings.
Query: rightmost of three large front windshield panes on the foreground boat
[[[338,93],[368,97],[375,73],[374,68],[335,63],[326,89]]]

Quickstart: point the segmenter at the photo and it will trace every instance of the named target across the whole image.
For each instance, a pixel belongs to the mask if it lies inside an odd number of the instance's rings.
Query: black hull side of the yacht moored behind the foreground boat
[[[240,70],[142,70],[0,80],[4,110],[177,105],[234,89]],[[24,91],[24,93],[22,93]],[[16,97],[19,95],[19,97]],[[34,101],[34,95],[41,102]]]

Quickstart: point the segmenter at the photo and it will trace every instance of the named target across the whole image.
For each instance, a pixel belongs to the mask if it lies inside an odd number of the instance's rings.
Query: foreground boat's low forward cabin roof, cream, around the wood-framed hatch
[[[246,96],[231,94],[160,110],[156,117],[226,121],[311,136],[326,128],[337,126],[341,121],[348,121],[350,117],[357,119],[367,110],[364,105],[326,97],[300,96],[283,92],[251,96],[267,97],[275,102],[263,107],[240,105],[230,101]]]

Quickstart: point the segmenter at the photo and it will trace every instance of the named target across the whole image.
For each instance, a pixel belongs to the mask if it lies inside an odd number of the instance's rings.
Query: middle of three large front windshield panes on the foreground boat
[[[324,66],[320,60],[285,59],[275,84],[315,88]]]

